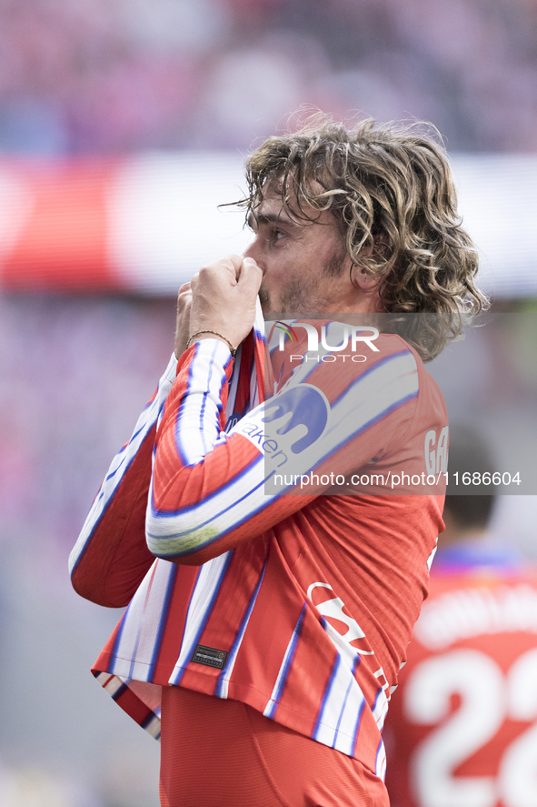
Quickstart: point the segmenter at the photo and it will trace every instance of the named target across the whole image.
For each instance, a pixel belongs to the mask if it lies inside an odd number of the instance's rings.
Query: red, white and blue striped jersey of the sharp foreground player
[[[343,325],[314,326],[340,345]],[[327,338],[316,356],[263,341],[255,328],[234,365],[204,339],[176,378],[172,360],[114,459],[71,558],[81,594],[129,603],[94,674],[154,736],[160,687],[180,685],[383,776],[390,689],[443,528],[443,496],[389,495],[388,473],[427,473],[434,440],[445,470],[443,398],[399,337],[337,366]],[[264,360],[275,392],[258,403]]]

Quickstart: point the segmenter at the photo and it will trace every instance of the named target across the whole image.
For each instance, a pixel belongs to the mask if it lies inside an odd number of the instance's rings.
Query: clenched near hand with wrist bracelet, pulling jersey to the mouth
[[[254,326],[262,277],[254,258],[239,255],[220,258],[200,269],[191,281],[190,335],[212,331],[208,337],[221,334],[238,348]]]

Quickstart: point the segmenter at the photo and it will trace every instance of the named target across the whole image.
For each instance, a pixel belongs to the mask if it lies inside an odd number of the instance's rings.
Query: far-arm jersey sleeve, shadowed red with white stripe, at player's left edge
[[[126,605],[154,563],[145,542],[145,511],[156,426],[176,368],[172,356],[133,436],[114,457],[69,557],[75,590],[99,605]]]

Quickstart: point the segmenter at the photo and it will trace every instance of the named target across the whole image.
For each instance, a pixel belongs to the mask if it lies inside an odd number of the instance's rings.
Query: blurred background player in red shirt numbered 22
[[[494,471],[471,429],[452,428],[449,469],[450,480]],[[537,570],[491,539],[493,506],[493,495],[446,496],[384,730],[392,807],[537,805]]]

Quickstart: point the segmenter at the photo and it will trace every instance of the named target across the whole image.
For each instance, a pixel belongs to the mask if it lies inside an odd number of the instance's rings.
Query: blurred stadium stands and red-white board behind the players
[[[118,614],[76,598],[66,558],[177,287],[246,243],[216,206],[301,105],[437,126],[493,309],[537,310],[535,0],[0,0],[2,807],[158,803],[157,744],[89,672]],[[482,397],[534,396],[494,357]],[[529,561],[536,516],[503,497],[493,525]]]

